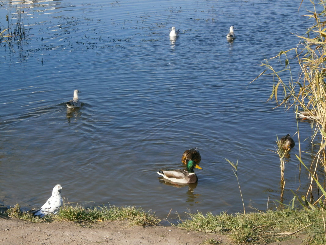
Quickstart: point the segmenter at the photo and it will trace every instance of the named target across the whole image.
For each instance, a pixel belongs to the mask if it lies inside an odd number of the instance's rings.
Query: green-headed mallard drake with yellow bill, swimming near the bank
[[[187,170],[184,169],[161,169],[157,172],[159,175],[162,175],[164,179],[175,182],[175,183],[184,183],[192,184],[196,183],[198,178],[194,172],[194,168],[202,169],[199,167],[194,160],[189,160],[186,166]]]

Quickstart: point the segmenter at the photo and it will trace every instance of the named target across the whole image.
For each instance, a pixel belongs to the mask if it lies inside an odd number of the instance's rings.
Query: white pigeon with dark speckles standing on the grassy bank
[[[42,218],[44,215],[53,213],[56,214],[59,208],[62,206],[62,197],[61,197],[62,187],[56,185],[52,190],[52,196],[46,201],[43,206],[34,212],[35,216]]]

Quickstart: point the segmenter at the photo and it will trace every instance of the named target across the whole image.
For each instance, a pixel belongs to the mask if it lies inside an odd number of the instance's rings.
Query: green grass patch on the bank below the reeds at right
[[[220,215],[198,212],[188,214],[189,219],[181,221],[181,228],[223,233],[237,243],[270,243],[304,235],[303,244],[325,244],[323,211],[304,209],[270,210],[259,213]]]

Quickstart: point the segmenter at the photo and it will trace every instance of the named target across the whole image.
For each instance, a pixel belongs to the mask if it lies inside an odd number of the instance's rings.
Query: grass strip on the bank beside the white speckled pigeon
[[[53,222],[53,221],[74,221],[74,222],[102,222],[114,220],[126,220],[130,225],[156,225],[160,220],[151,212],[144,212],[142,208],[135,206],[96,206],[85,208],[82,206],[64,205],[55,215],[46,215],[39,218],[31,212],[22,211],[19,204],[9,208],[4,213],[8,217],[18,218],[30,222]]]

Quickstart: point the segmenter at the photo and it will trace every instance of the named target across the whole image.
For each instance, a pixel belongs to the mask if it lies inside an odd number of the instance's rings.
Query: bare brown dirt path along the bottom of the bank
[[[189,232],[176,227],[129,227],[125,221],[31,223],[0,216],[0,245],[195,245],[210,238],[233,244],[224,235]]]

